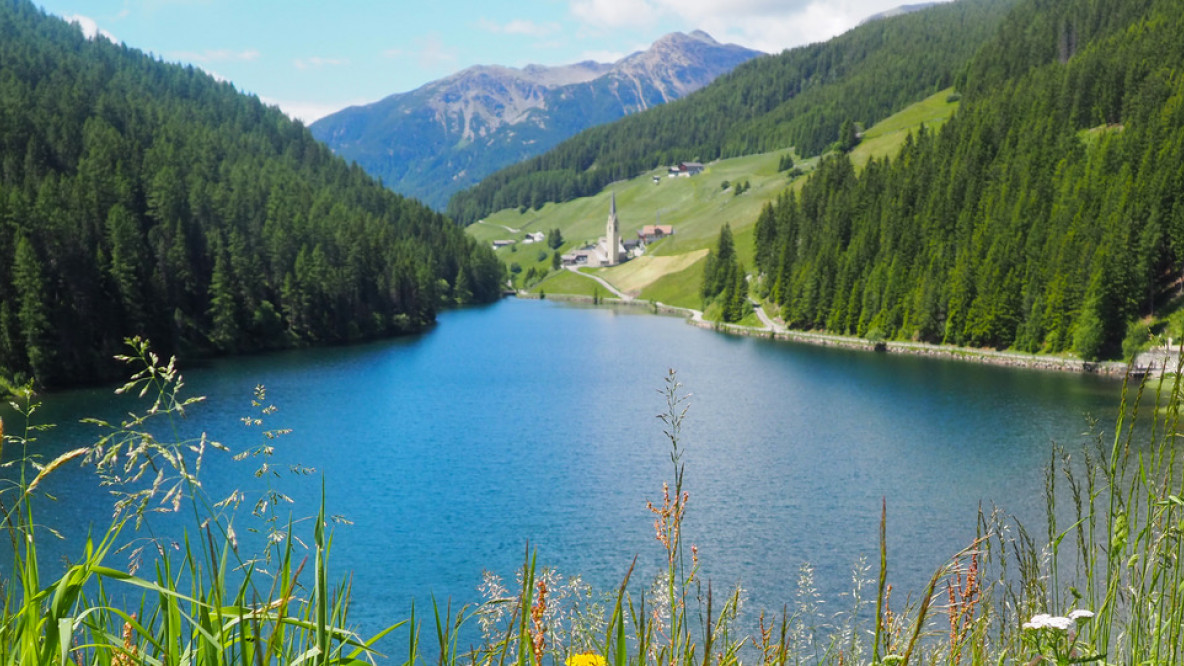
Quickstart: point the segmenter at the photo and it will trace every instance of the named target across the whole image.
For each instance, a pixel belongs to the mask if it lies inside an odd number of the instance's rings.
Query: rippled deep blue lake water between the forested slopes
[[[749,608],[792,601],[798,570],[826,598],[877,557],[888,505],[890,581],[924,585],[970,544],[980,504],[997,502],[1043,533],[1043,467],[1053,442],[1080,446],[1086,415],[1112,421],[1113,379],[735,338],[678,319],[507,300],[444,313],[431,332],[354,347],[234,358],[191,367],[208,399],[181,434],[234,450],[258,446],[250,416],[263,384],[291,428],[276,460],[317,470],[275,484],[296,515],[314,514],[323,479],[333,564],[354,576],[363,628],[407,615],[412,598],[480,598],[485,569],[511,576],[526,544],[539,563],[618,584],[661,565],[646,500],[671,480],[658,390],[677,370],[690,493],[686,539],[719,587],[740,583]],[[44,398],[46,455],[86,443],[82,416],[131,409],[110,390]],[[9,433],[11,411],[0,414]],[[257,491],[251,462],[206,460],[211,494]],[[91,473],[62,470],[39,517],[59,530],[54,556],[77,552],[110,508]],[[240,531],[249,520],[240,517]],[[52,556],[51,556],[52,557]]]

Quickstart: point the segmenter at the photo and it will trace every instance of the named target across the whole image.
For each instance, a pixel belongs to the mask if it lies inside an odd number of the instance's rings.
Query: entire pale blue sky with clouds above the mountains
[[[703,30],[767,53],[909,0],[34,0],[305,123],[472,65],[614,62]]]

